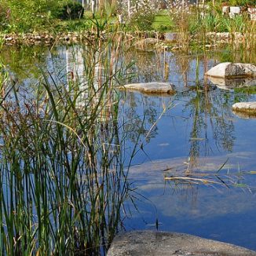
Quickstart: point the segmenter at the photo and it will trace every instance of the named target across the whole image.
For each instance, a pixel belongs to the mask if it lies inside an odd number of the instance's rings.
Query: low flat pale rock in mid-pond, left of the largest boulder
[[[120,86],[119,89],[137,90],[141,93],[174,94],[175,86],[170,82],[139,82]]]

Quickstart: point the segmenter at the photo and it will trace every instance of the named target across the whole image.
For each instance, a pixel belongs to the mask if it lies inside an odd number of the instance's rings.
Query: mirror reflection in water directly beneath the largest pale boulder
[[[209,76],[208,79],[215,86],[223,90],[232,90],[235,88],[243,87],[252,87],[256,86],[256,77],[255,78],[243,78],[243,79],[222,79],[218,77]]]

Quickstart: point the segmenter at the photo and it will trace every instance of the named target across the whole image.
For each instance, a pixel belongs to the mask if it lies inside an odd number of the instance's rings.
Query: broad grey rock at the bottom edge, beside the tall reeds
[[[256,256],[256,252],[198,236],[170,232],[137,231],[116,236],[107,255]]]

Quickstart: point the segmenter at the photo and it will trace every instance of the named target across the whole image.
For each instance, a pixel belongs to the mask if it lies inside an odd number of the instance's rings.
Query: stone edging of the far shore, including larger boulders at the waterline
[[[120,31],[122,33],[122,31]],[[108,38],[110,33],[106,31],[101,31],[100,38],[104,41]],[[75,44],[75,43],[84,43],[90,39],[96,38],[97,31],[79,31],[79,32],[61,32],[59,34],[50,34],[46,32],[36,32],[36,33],[27,33],[27,34],[2,34],[0,35],[0,42],[3,46],[35,46],[35,45],[60,45],[60,44]],[[185,45],[182,45],[180,42],[186,36],[188,41]],[[189,44],[192,45],[193,42],[201,42],[202,35],[192,35],[188,33],[187,35],[182,35],[178,32],[155,32],[155,31],[144,31],[144,32],[133,32],[127,33],[126,37],[130,42],[137,43],[142,42],[142,47],[139,49],[146,49],[148,45],[154,46],[155,49],[170,49],[173,51],[184,50],[189,47]],[[155,39],[155,41],[152,40]],[[147,41],[150,39],[151,41]],[[248,35],[239,32],[230,33],[230,32],[207,32],[205,34],[205,44],[203,45],[206,49],[212,49],[218,47],[220,44],[226,43],[244,43],[250,41],[251,44],[255,42],[256,35]],[[148,43],[149,42],[149,43]],[[250,45],[248,49],[253,48]]]

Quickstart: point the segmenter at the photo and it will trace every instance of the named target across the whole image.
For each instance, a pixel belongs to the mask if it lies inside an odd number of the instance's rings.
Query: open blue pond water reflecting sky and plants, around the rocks
[[[38,67],[60,81],[75,67],[83,81],[82,50],[6,48],[1,56],[27,93],[40,77]],[[129,82],[171,82],[177,93],[121,92],[119,133],[126,138],[123,163],[133,199],[124,205],[124,229],[185,232],[256,251],[256,119],[232,112],[232,104],[256,100],[256,83],[223,88],[204,77],[219,62],[254,60],[229,46],[125,54],[123,61],[133,62]]]

